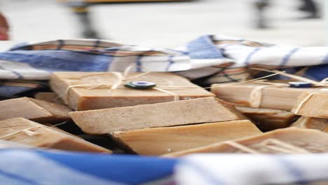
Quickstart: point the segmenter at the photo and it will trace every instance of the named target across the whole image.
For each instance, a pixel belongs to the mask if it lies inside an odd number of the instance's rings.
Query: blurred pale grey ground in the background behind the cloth
[[[315,15],[304,8],[305,1],[300,0],[116,4],[55,0],[0,2],[1,13],[10,25],[10,39],[15,43],[75,39],[88,34],[93,37],[94,34],[100,39],[121,43],[175,48],[200,35],[224,34],[280,45],[325,44],[323,0],[314,1]],[[87,23],[95,33],[86,33],[86,19],[90,20]]]

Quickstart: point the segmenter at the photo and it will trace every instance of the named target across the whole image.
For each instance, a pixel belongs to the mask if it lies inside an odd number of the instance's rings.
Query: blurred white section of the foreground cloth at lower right
[[[198,154],[179,160],[177,184],[328,184],[328,154]]]

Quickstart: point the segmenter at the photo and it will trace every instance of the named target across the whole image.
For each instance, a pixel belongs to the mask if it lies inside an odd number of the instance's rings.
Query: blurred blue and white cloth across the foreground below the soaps
[[[198,154],[183,158],[0,149],[1,184],[315,184],[328,154]]]

